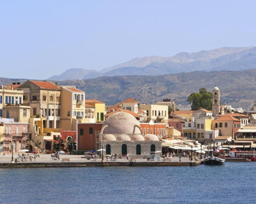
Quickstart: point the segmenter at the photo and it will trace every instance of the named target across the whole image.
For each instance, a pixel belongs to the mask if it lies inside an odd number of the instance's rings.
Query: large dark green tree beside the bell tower
[[[192,93],[188,97],[188,102],[192,103],[192,111],[200,108],[212,110],[212,93],[207,92],[206,88],[200,88],[199,93]]]

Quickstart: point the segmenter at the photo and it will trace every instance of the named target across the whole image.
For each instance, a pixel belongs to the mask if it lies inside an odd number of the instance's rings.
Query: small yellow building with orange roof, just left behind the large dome
[[[96,122],[103,122],[105,115],[105,103],[96,99],[87,99],[85,103],[95,108],[94,118]]]

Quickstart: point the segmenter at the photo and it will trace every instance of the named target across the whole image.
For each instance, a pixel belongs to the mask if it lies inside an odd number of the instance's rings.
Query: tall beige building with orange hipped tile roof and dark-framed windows
[[[19,87],[24,92],[23,103],[29,105],[30,117],[43,117],[44,128],[59,128],[61,88],[52,82],[28,80]]]

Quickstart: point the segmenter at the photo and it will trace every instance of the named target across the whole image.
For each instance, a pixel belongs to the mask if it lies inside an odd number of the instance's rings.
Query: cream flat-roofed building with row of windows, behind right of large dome
[[[162,120],[168,122],[168,105],[145,105],[140,104],[140,109],[146,111],[147,120],[160,122]]]

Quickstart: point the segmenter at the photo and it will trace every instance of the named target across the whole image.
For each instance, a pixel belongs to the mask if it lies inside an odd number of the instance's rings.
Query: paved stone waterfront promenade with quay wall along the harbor
[[[131,162],[125,159],[116,159],[116,161],[93,161],[81,158],[83,155],[69,155],[61,154],[60,160],[52,160],[50,154],[41,154],[36,160],[32,161],[20,161],[12,164],[12,155],[0,156],[0,168],[6,167],[100,167],[100,166],[196,166],[200,164],[200,161],[191,162],[187,157],[182,157],[179,161],[178,157],[174,157],[171,160],[166,161],[147,161],[147,159],[136,159]],[[17,154],[14,154],[13,159],[17,158]],[[70,161],[62,161],[62,159],[70,159]]]

